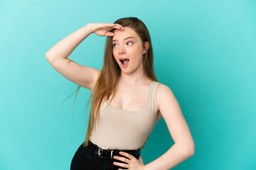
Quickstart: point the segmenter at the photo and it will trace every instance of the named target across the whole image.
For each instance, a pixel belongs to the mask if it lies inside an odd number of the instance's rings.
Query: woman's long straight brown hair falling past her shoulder
[[[151,45],[151,38],[149,35],[149,30],[146,28],[145,24],[136,17],[127,17],[127,18],[120,18],[114,23],[117,23],[123,27],[132,28],[138,35],[139,38],[142,40],[142,47],[146,49],[144,46],[144,42],[149,42],[149,49],[144,54],[143,58],[143,70],[144,75],[150,79],[151,81],[157,81],[156,75],[154,74],[154,62],[153,62],[153,49]],[[110,32],[114,33],[115,29],[110,30]],[[112,36],[108,36],[106,43],[105,43],[105,52],[104,52],[104,60],[103,60],[103,67],[98,77],[97,81],[95,82],[95,86],[92,89],[92,94],[87,102],[90,102],[92,99],[91,110],[90,110],[90,117],[89,122],[87,125],[87,132],[85,136],[85,142],[83,142],[83,146],[86,147],[90,140],[90,136],[92,135],[92,128],[95,127],[95,123],[99,121],[100,117],[100,106],[104,98],[110,98],[110,95],[113,93],[113,96],[110,100],[114,98],[116,94],[115,87],[117,86],[117,80],[121,75],[121,69],[117,64],[116,60],[114,60],[114,55],[112,51]],[[80,86],[78,86],[78,91]],[[78,94],[78,92],[77,92]],[[75,95],[75,98],[77,96]],[[74,101],[75,105],[75,101]],[[73,110],[74,111],[74,110]],[[96,121],[95,121],[96,120]],[[149,140],[147,137],[146,142]],[[144,143],[144,145],[146,144]],[[140,149],[144,148],[144,145],[140,147]]]

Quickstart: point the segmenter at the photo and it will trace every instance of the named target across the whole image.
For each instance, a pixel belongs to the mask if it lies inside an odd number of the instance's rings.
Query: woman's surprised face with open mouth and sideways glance
[[[137,68],[143,67],[143,54],[146,50],[142,49],[142,40],[132,28],[124,27],[124,30],[114,30],[112,47],[114,59],[122,71],[134,72]],[[122,64],[121,58],[126,58],[129,62],[124,61]]]

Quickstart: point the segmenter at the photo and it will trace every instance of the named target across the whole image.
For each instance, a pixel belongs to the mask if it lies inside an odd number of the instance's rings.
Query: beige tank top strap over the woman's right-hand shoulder
[[[147,108],[150,108],[151,111],[156,113],[157,111],[157,103],[156,103],[156,90],[159,86],[160,82],[152,81],[149,86],[149,96],[147,98]]]

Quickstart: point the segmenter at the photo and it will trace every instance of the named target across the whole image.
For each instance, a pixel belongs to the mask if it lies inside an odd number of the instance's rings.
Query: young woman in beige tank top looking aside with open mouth
[[[68,59],[91,33],[107,36],[102,70]],[[46,58],[64,77],[92,91],[85,142],[75,152],[70,169],[171,169],[194,154],[178,101],[168,86],[156,80],[149,31],[138,18],[88,23],[60,40]],[[161,117],[175,144],[144,165],[141,149]]]

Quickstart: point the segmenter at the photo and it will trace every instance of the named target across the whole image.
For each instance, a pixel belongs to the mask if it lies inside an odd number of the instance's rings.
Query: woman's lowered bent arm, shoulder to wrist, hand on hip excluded
[[[195,145],[186,120],[181,113],[181,108],[171,89],[164,84],[159,84],[156,98],[159,111],[175,144],[161,157],[146,164],[144,170],[169,170],[193,156]]]

